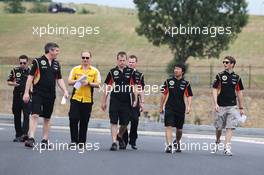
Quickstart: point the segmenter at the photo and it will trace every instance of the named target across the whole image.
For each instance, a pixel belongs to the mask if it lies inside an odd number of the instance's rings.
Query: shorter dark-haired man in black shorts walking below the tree
[[[166,153],[172,153],[175,147],[176,152],[181,152],[180,140],[182,137],[182,128],[185,120],[185,113],[191,111],[192,89],[188,81],[184,80],[184,65],[174,66],[174,76],[164,82],[162,88],[162,97],[160,103],[160,113],[164,112],[165,104],[165,134],[166,134]],[[187,107],[184,97],[187,98]],[[172,145],[173,127],[176,127],[176,141]]]

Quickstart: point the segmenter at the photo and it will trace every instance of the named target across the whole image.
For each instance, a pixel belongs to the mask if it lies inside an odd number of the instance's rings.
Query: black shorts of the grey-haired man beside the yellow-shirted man
[[[32,114],[38,114],[40,117],[50,119],[53,112],[55,98],[46,98],[34,94],[32,96]]]

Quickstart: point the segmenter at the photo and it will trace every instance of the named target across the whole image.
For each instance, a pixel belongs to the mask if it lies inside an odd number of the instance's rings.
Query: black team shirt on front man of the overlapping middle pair
[[[123,72],[118,67],[111,69],[104,81],[106,85],[113,85],[111,98],[120,102],[131,103],[132,85],[135,84],[135,72],[129,67],[125,67]]]

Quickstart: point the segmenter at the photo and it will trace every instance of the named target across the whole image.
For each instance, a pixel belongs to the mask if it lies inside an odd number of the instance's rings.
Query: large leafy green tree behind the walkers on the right
[[[140,25],[136,28],[153,45],[168,45],[168,64],[188,58],[219,58],[247,24],[245,0],[134,0]]]

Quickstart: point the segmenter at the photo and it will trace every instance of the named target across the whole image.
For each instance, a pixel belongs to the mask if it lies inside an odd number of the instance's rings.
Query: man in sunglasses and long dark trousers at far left
[[[14,114],[14,125],[16,138],[14,142],[24,142],[28,138],[29,105],[23,102],[27,77],[29,75],[28,57],[19,57],[20,66],[13,68],[9,74],[7,83],[14,86],[12,111]],[[21,126],[21,111],[23,111],[23,125]]]

